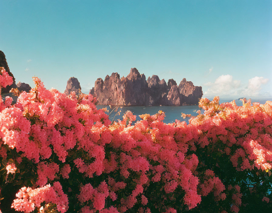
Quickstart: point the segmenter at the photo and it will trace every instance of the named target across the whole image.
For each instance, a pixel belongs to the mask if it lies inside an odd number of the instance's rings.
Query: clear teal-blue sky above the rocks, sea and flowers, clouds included
[[[3,1],[0,50],[16,82],[83,92],[136,67],[205,97],[272,96],[272,1]]]

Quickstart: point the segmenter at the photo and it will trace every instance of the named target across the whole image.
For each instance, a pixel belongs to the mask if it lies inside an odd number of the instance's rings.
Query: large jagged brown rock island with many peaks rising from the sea
[[[119,106],[165,105],[179,106],[198,104],[202,97],[202,87],[195,87],[184,78],[179,86],[173,79],[160,80],[157,75],[145,79],[136,68],[131,68],[127,77],[118,73],[98,78],[90,94],[97,97],[97,104]]]

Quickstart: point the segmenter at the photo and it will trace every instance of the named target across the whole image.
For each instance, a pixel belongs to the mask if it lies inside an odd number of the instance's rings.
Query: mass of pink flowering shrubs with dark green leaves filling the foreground
[[[37,77],[0,100],[3,212],[245,212],[270,209],[272,102],[219,104],[189,124],[165,114],[108,119],[92,95]],[[12,84],[1,69],[0,84]],[[183,115],[189,116],[189,115]]]

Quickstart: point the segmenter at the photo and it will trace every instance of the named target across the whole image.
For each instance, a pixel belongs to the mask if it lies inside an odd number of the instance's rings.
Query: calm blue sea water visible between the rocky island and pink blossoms
[[[249,97],[250,98],[250,97]],[[211,100],[211,99],[209,99]],[[272,97],[252,97],[251,98],[252,102],[259,102],[264,104],[267,100],[271,100],[272,101]],[[230,99],[222,99],[220,100],[220,103],[223,102],[230,102],[232,100]],[[235,100],[236,104],[238,106],[242,106],[242,101],[240,100]],[[97,105],[97,109],[101,109],[101,108],[105,108],[107,107],[107,110],[109,110],[109,113],[113,110],[110,109],[110,106],[106,106],[106,105]],[[182,113],[185,114],[191,114],[192,116],[196,116],[197,113],[196,111],[199,110],[199,107],[197,105],[194,106],[123,106],[122,108],[118,108],[117,111],[120,111],[121,113],[120,115],[115,115],[117,112],[112,112],[110,113],[110,120],[117,120],[117,119],[122,119],[122,116],[124,115],[124,113],[127,110],[130,110],[134,115],[137,115],[137,119],[136,120],[141,120],[139,115],[142,114],[150,114],[150,115],[154,115],[156,113],[158,113],[159,110],[162,110],[163,112],[165,112],[165,123],[173,123],[175,122],[176,119],[181,120],[181,121],[186,121],[188,123],[189,118],[186,117],[185,119],[183,119],[181,117]],[[203,110],[202,110],[203,112]],[[107,113],[107,114],[109,114]],[[114,117],[115,116],[115,117]]]

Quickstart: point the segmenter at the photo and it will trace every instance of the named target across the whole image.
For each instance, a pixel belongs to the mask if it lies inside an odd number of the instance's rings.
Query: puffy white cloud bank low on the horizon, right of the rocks
[[[221,75],[214,82],[203,84],[203,86],[209,87],[204,92],[204,96],[263,96],[267,93],[261,93],[262,85],[267,84],[268,81],[267,78],[256,76],[249,79],[246,86],[242,85],[240,80],[234,80],[232,75]]]

